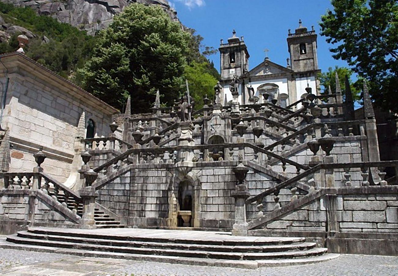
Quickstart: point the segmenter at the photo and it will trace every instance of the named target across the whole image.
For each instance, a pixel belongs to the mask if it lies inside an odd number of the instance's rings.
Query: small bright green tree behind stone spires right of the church
[[[324,73],[319,73],[318,79],[320,82],[320,86],[323,87],[323,92],[321,92],[321,94],[327,95],[329,93],[329,86],[332,90],[332,93],[336,92],[336,72],[340,82],[341,93],[345,95],[345,76],[347,76],[353,99],[354,101],[359,100],[361,91],[357,89],[355,83],[353,83],[353,81],[351,80],[351,75],[353,74],[353,71],[346,67],[336,66],[334,69],[332,67],[329,67],[328,71]]]

